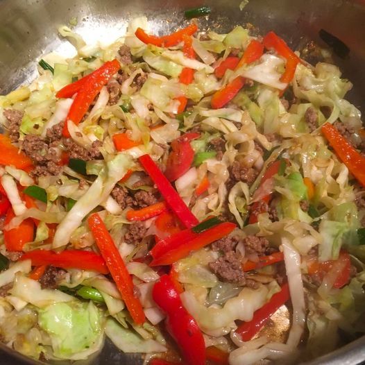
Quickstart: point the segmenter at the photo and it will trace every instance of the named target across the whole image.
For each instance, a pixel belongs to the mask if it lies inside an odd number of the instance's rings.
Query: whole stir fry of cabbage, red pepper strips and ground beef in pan
[[[108,337],[146,364],[248,365],[365,331],[351,83],[273,32],[196,24],[134,19],[109,46],[62,26],[77,55],[0,96],[0,335],[20,353]]]

